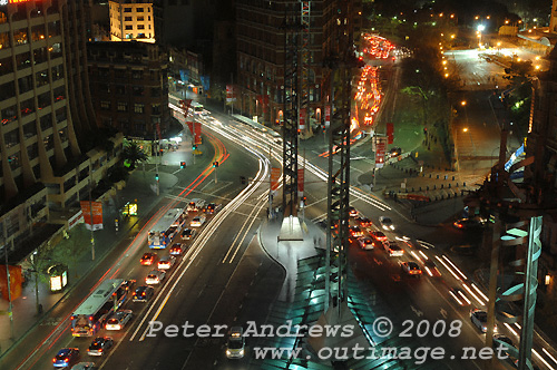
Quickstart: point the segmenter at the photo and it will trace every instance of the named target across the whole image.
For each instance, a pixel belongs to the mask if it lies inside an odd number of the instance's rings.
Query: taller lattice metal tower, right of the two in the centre
[[[335,29],[332,35],[331,56],[328,59],[331,82],[332,119],[329,130],[329,182],[328,182],[328,242],[326,274],[330,275],[331,253],[338,253],[339,279],[336,289],[325,280],[325,311],[329,299],[341,310],[348,296],[348,249],[350,207],[350,108],[352,94],[352,68],[358,66],[352,50],[352,1],[338,1]],[[331,293],[334,292],[334,293]]]

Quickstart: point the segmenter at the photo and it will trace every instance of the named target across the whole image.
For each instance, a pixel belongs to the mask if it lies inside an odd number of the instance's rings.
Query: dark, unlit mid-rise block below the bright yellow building
[[[98,125],[153,140],[169,127],[167,56],[145,42],[90,42],[89,76]]]

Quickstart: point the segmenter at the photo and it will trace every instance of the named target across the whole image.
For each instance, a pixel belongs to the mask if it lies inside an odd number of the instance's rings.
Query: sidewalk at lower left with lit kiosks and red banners
[[[160,173],[160,194],[177,182],[176,176],[167,173]],[[68,285],[60,293],[51,293],[45,282],[39,282],[39,303],[42,305],[42,314],[37,314],[37,301],[35,293],[35,276],[23,289],[20,298],[13,301],[13,338],[11,338],[10,320],[8,315],[0,317],[0,358],[4,357],[20,341],[22,341],[37,325],[57,325],[60,319],[49,319],[49,313],[55,310],[65,298],[71,294],[72,290],[88,273],[99,263],[105,255],[117,246],[123,240],[128,237],[128,233],[140,217],[149,214],[160,197],[153,191],[153,177],[143,171],[136,169],[131,173],[127,186],[117,191],[116,195],[110,196],[104,202],[104,228],[95,232],[95,261],[91,261],[90,231],[79,224],[68,234],[69,238],[62,240],[59,247],[79,247],[78,255],[69,257],[65,263],[68,264]],[[119,220],[119,231],[115,230],[115,218],[118,216],[118,210],[127,202],[138,204],[138,216],[130,216]],[[70,245],[68,245],[70,244]],[[8,302],[0,302],[0,310],[8,310]],[[58,321],[57,321],[58,320]]]

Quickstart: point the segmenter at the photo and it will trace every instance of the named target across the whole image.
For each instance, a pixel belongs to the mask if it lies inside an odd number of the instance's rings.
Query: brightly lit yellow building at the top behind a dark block
[[[155,42],[152,0],[109,1],[110,40]]]

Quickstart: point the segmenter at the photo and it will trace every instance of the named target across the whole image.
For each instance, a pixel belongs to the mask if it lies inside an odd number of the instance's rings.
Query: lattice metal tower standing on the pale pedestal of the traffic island
[[[299,140],[299,40],[300,19],[284,6],[284,89],[283,89],[283,197],[284,216],[297,212]]]

